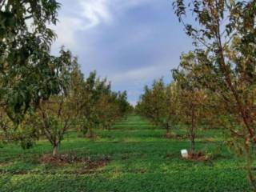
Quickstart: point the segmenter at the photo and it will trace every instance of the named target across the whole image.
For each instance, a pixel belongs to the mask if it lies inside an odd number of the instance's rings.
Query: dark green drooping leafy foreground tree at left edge
[[[50,54],[56,35],[49,28],[59,6],[55,0],[0,1],[0,124],[11,140],[30,141],[33,111],[62,89],[56,70],[62,56]]]

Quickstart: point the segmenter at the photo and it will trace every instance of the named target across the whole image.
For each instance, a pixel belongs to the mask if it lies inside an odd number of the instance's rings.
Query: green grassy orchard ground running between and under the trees
[[[184,128],[177,128],[185,134]],[[199,131],[196,147],[212,154],[209,161],[184,160],[186,139],[164,138],[165,130],[130,116],[112,130],[96,131],[98,138],[66,134],[63,162],[43,162],[50,154],[46,140],[22,150],[0,149],[0,191],[250,191],[242,161],[222,146],[220,130]],[[220,151],[220,152],[219,152]]]

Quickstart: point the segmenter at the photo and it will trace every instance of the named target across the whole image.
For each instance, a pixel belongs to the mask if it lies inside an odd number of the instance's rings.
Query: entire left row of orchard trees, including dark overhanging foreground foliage
[[[115,93],[96,72],[85,79],[69,50],[50,54],[59,7],[55,0],[0,1],[1,140],[28,148],[44,135],[53,155],[66,131],[93,137],[95,127],[110,129],[131,110],[126,92]]]

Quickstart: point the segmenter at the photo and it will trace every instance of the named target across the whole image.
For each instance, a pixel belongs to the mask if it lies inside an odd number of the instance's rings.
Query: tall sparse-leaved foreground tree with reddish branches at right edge
[[[251,163],[256,146],[255,85],[256,1],[195,0],[174,1],[174,10],[194,38],[201,71],[198,82],[222,98],[238,126],[229,126],[234,146],[247,157],[249,178],[256,190]],[[199,25],[186,24],[184,15],[192,10]],[[204,46],[204,48],[202,48]],[[200,77],[200,78],[199,78]]]

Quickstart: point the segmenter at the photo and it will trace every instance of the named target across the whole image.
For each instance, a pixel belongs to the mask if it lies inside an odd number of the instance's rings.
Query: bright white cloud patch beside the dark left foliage
[[[153,0],[78,0],[72,2],[72,8],[65,2],[57,26],[52,26],[58,40],[55,46],[66,46],[74,50],[78,46],[77,34],[102,24],[110,25],[118,14]],[[74,10],[74,11],[71,11]]]

